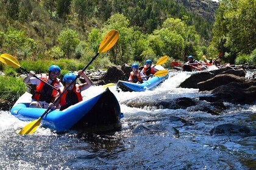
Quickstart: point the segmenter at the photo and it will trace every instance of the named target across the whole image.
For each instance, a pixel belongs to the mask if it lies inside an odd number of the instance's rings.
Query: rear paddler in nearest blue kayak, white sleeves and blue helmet
[[[38,75],[41,80],[48,82],[56,89],[60,90],[63,89],[63,84],[60,82],[58,78],[60,75],[60,67],[57,65],[52,65],[48,69],[48,75],[41,74]],[[33,77],[35,72],[30,71],[29,75],[24,78],[24,83],[26,84],[36,84],[37,87],[35,89],[35,94],[32,95],[32,102],[30,103],[29,107],[37,107],[37,108],[48,108],[49,103],[55,100],[55,97],[59,92],[53,89],[48,84],[45,84],[43,81],[38,80],[37,78]]]

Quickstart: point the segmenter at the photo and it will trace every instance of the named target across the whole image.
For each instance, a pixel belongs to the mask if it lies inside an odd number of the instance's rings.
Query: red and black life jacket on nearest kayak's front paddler
[[[64,94],[60,98],[60,107],[66,106],[66,108],[67,108],[67,107],[69,107],[73,104],[76,104],[82,100],[83,100],[83,98],[82,98],[82,95],[80,92],[79,85],[76,84],[76,86],[74,86],[73,90],[71,90],[69,92],[68,92],[68,90],[66,90],[64,92]]]

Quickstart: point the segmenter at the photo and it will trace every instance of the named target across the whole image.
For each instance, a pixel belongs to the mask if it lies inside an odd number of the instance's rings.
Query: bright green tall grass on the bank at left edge
[[[0,76],[0,99],[15,103],[26,91],[26,84],[19,77]]]

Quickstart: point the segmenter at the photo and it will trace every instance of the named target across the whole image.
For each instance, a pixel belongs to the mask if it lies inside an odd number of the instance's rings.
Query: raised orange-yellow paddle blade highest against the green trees
[[[105,37],[103,38],[101,45],[99,46],[98,53],[104,53],[107,50],[111,49],[116,44],[116,41],[118,41],[118,38],[118,30],[110,30],[110,32],[108,32],[107,35],[105,35]]]

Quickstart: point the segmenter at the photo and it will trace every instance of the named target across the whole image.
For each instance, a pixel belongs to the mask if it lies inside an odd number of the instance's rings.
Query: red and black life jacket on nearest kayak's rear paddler
[[[47,75],[41,74],[41,80],[48,82]],[[46,101],[46,103],[51,103],[55,100],[56,95],[58,94],[58,91],[55,89],[52,89],[51,86],[48,84],[45,84],[43,81],[40,81],[38,86],[35,88],[35,94],[32,95],[32,98],[37,101]],[[54,87],[58,87],[60,84],[59,78],[52,81],[51,85]]]

